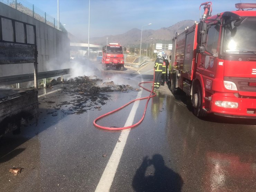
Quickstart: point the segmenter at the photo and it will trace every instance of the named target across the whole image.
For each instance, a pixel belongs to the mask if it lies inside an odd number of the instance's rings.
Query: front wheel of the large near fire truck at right
[[[193,113],[196,117],[207,116],[206,111],[202,109],[202,89],[199,84],[195,85],[195,93],[192,95]]]

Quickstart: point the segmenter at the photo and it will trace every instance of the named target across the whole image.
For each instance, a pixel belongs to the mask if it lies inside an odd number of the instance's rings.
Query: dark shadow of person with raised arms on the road
[[[145,176],[147,167],[150,165],[154,165],[155,172]],[[132,187],[136,192],[181,191],[182,185],[181,176],[166,167],[163,156],[159,154],[155,154],[152,159],[148,159],[148,156],[144,157],[132,181]]]

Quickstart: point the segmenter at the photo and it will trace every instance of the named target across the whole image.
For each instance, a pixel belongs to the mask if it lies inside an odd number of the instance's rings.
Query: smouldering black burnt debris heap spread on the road
[[[139,89],[130,85],[117,85],[113,81],[103,82],[96,76],[79,76],[65,81],[57,96],[42,98],[40,103],[47,108],[47,114],[52,116],[57,116],[59,112],[62,115],[81,114],[88,110],[101,110],[106,101],[111,99],[108,93],[114,91],[129,92]]]

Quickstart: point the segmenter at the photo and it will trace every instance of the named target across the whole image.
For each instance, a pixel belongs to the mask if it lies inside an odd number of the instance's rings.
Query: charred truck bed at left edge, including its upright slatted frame
[[[34,89],[0,89],[0,137],[10,131],[19,133],[22,125],[38,119],[36,40],[35,25],[0,15],[0,65],[34,63]],[[0,81],[0,86],[9,84],[8,79]]]

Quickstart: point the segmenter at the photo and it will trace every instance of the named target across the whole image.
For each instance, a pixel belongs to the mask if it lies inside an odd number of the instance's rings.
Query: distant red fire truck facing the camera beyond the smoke
[[[124,51],[126,48],[124,47]],[[124,53],[123,48],[118,43],[110,43],[102,47],[102,68],[107,70],[108,67],[116,67],[118,70],[124,70]]]

